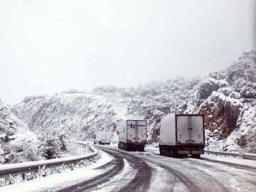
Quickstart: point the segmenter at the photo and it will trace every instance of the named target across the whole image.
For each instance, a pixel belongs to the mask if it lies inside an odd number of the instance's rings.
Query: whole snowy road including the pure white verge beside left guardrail
[[[159,150],[124,151],[95,145],[100,159],[85,168],[4,186],[0,191],[256,191],[256,161],[202,155],[159,156]]]

